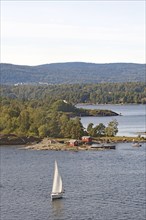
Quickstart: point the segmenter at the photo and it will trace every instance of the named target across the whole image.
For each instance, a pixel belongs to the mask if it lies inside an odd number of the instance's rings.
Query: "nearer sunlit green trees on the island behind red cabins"
[[[84,129],[80,117],[75,113],[87,114],[92,110],[78,109],[63,100],[52,101],[1,98],[0,133],[15,134],[20,137],[61,137],[81,138],[83,135],[94,137],[115,136],[118,132],[117,121],[111,121],[107,127],[89,124]],[[93,110],[95,111],[95,110]],[[101,112],[104,112],[100,110]],[[105,110],[106,112],[106,110]]]

